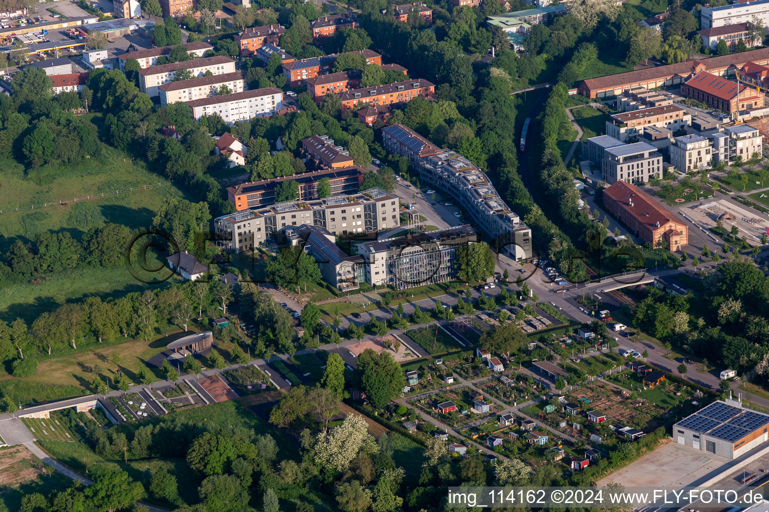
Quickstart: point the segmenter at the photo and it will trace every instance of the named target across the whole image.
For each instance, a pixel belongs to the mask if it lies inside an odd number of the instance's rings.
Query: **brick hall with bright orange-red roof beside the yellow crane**
[[[764,106],[764,94],[747,84],[700,71],[681,85],[681,95],[701,101],[711,108],[728,112],[751,111]]]

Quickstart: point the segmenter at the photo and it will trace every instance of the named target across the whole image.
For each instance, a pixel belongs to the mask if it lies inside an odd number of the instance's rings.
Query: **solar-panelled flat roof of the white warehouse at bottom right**
[[[769,426],[769,415],[730,405],[724,401],[714,401],[711,405],[678,421],[673,428],[686,428],[696,434],[705,434],[728,443],[736,443],[754,433],[761,433],[761,430],[766,434],[767,426]]]

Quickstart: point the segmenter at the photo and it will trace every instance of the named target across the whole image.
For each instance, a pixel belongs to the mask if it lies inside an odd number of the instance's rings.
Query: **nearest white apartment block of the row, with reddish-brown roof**
[[[192,117],[198,121],[208,114],[219,114],[227,124],[248,121],[254,117],[269,117],[283,108],[283,91],[270,87],[241,91],[223,96],[204,97],[188,101]]]

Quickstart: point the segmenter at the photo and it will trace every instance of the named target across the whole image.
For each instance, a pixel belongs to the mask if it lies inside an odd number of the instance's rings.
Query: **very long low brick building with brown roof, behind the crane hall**
[[[636,86],[647,89],[671,87],[683,84],[692,74],[700,71],[707,71],[716,76],[731,75],[735,69],[742,68],[747,62],[769,64],[769,48],[590,78],[579,84],[578,93],[586,97],[609,97],[618,96],[625,89]]]

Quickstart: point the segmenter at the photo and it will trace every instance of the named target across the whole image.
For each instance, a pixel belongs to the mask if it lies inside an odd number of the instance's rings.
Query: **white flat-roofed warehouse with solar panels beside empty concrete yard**
[[[767,441],[769,415],[714,401],[673,425],[673,438],[697,450],[734,459]]]

